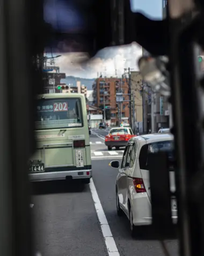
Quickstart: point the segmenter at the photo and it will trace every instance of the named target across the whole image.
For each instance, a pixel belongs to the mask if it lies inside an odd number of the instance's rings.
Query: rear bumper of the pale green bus
[[[28,174],[30,181],[55,181],[58,179],[85,179],[92,177],[92,170],[52,171]]]

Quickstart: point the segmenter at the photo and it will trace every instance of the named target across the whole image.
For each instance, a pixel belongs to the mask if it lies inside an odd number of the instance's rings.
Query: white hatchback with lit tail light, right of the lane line
[[[112,161],[111,167],[119,168],[116,178],[116,210],[120,216],[125,212],[134,236],[136,226],[151,224],[151,194],[148,170],[148,153],[159,150],[173,158],[173,135],[147,134],[132,137],[127,143],[121,164]],[[171,191],[175,192],[174,171],[170,171]],[[172,219],[177,222],[177,203],[172,198]]]

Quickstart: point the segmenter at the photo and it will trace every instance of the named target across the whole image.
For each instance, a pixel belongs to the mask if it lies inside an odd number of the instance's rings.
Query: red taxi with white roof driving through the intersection
[[[113,147],[119,149],[120,147],[125,147],[130,138],[136,135],[133,134],[131,128],[112,128],[108,135],[105,136],[105,145],[108,147],[108,150],[111,150]]]

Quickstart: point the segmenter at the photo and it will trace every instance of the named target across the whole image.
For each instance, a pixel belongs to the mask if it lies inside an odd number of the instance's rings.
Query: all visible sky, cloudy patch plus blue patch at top
[[[152,19],[162,18],[163,0],[131,0],[132,11],[142,12]],[[49,16],[50,17],[50,16]],[[147,31],[148,32],[148,31]],[[59,53],[57,53],[58,55]],[[55,54],[53,53],[55,56]],[[137,61],[142,55],[140,45],[133,43],[128,46],[108,47],[99,51],[88,62],[81,64],[80,60],[86,59],[83,53],[63,53],[56,58],[55,65],[60,66],[60,72],[81,78],[96,78],[98,75],[120,76],[124,68],[138,70]],[[116,71],[115,71],[116,70]]]

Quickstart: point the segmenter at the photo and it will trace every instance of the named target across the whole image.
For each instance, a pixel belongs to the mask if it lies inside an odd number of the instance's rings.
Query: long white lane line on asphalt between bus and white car
[[[98,220],[99,220],[99,223],[100,223],[101,231],[103,233],[103,237],[104,237],[104,240],[105,240],[108,255],[109,256],[120,256],[118,248],[115,244],[115,240],[113,238],[110,226],[108,225],[103,207],[100,203],[100,199],[98,197],[98,193],[97,193],[97,190],[96,190],[96,187],[93,183],[92,178],[91,178],[89,186],[90,186],[91,195],[92,195],[92,198],[93,198],[93,203],[94,203],[96,213],[97,213],[97,216],[98,216]]]

